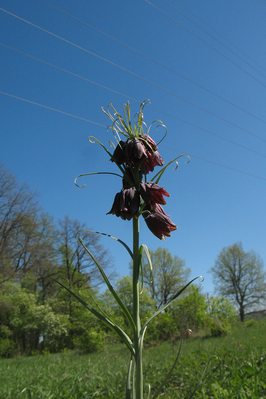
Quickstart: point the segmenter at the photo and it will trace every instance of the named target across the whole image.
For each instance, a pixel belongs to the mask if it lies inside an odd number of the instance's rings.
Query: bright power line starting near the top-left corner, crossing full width
[[[147,0],[145,0],[145,1],[147,1]],[[157,7],[156,7],[156,8],[157,8]],[[66,40],[66,39],[64,39],[64,38],[61,38],[60,36],[58,36],[58,35],[56,35],[56,34],[54,34],[54,33],[52,33],[52,32],[49,32],[48,30],[46,30],[46,29],[44,29],[44,28],[41,28],[40,26],[37,26],[37,25],[33,24],[32,22],[29,22],[29,21],[27,21],[27,20],[24,20],[23,18],[20,18],[19,16],[15,15],[15,14],[12,14],[11,12],[4,10],[3,8],[0,8],[0,10],[6,12],[7,14],[10,14],[10,15],[14,16],[15,18],[18,18],[19,20],[22,20],[23,22],[26,22],[27,24],[30,24],[30,25],[34,26],[35,28],[38,28],[38,29],[42,30],[43,32],[46,32],[46,33],[48,33],[48,34],[50,34],[50,35],[52,35],[52,36],[54,36],[54,37],[56,37],[56,38],[58,38],[58,39],[60,39],[60,40],[63,40],[63,41],[65,41],[66,43],[69,43],[69,44],[73,45],[74,47],[77,47],[77,48],[79,48],[79,49],[81,49],[81,50],[83,50],[83,51],[85,51],[85,52],[87,52],[87,53],[89,53],[89,54],[91,54],[91,55],[94,55],[95,57],[97,57],[97,58],[99,58],[99,59],[101,59],[101,60],[103,60],[103,61],[105,61],[105,62],[107,62],[107,63],[109,63],[109,64],[111,64],[111,65],[114,65],[115,67],[117,67],[117,68],[119,68],[119,69],[122,69],[123,71],[126,71],[126,72],[130,73],[131,75],[136,76],[136,77],[138,77],[139,79],[142,79],[143,81],[145,81],[145,82],[147,82],[147,83],[150,83],[151,85],[153,85],[153,86],[155,86],[155,87],[158,87],[159,89],[162,89],[162,90],[164,90],[165,92],[167,92],[167,93],[169,93],[169,94],[171,94],[171,95],[173,95],[173,96],[175,96],[175,97],[177,97],[177,98],[179,98],[179,99],[181,99],[181,100],[183,100],[183,101],[185,101],[185,102],[187,102],[187,103],[193,105],[194,107],[197,107],[197,108],[201,109],[202,111],[205,111],[205,112],[209,113],[210,115],[212,115],[212,116],[214,116],[214,117],[216,117],[216,118],[218,118],[218,119],[220,119],[220,120],[223,120],[224,122],[227,122],[228,124],[230,124],[230,125],[232,125],[232,126],[238,128],[238,129],[242,130],[243,132],[246,132],[246,133],[250,134],[251,136],[254,136],[254,137],[259,138],[260,140],[266,142],[266,140],[265,140],[264,138],[262,138],[262,137],[260,137],[260,136],[257,136],[256,134],[250,132],[249,130],[244,129],[244,128],[238,126],[237,124],[232,123],[232,122],[230,122],[229,120],[224,119],[224,118],[220,117],[219,115],[216,115],[216,114],[212,113],[211,111],[208,111],[207,109],[201,107],[200,105],[197,105],[197,104],[193,103],[192,101],[189,101],[189,100],[185,99],[184,97],[181,97],[181,96],[179,96],[178,94],[173,93],[172,91],[170,91],[170,90],[168,90],[168,89],[165,89],[164,87],[161,87],[161,86],[157,85],[156,83],[154,83],[154,82],[152,82],[152,81],[149,81],[148,79],[145,79],[144,77],[142,77],[142,76],[140,76],[140,75],[137,75],[136,73],[131,72],[131,71],[129,71],[128,69],[123,68],[123,67],[121,67],[120,65],[117,65],[117,64],[113,63],[112,61],[109,61],[109,60],[107,60],[107,59],[101,57],[100,55],[97,55],[97,54],[95,54],[95,53],[92,53],[91,51],[89,51],[89,50],[87,50],[87,49],[85,49],[85,48],[83,48],[83,47],[81,47],[81,46],[79,46],[79,45],[77,45],[77,44],[75,44],[75,43],[72,43],[72,42],[69,41],[69,40]],[[171,18],[171,17],[170,17],[170,18]]]

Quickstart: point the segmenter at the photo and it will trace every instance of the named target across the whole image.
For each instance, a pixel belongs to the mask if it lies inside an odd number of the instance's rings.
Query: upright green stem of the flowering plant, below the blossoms
[[[133,321],[136,329],[134,331],[134,348],[135,348],[135,392],[136,399],[142,399],[142,361],[139,355],[140,351],[140,336],[141,330],[139,320],[139,218],[133,217]],[[133,381],[134,383],[134,381]]]

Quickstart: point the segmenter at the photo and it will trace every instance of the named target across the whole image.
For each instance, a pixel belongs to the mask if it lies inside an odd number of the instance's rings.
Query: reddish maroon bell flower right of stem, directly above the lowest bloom
[[[153,182],[147,182],[139,185],[139,194],[143,201],[150,205],[151,209],[154,211],[156,209],[156,204],[166,205],[165,198],[170,197],[164,187],[160,187]]]

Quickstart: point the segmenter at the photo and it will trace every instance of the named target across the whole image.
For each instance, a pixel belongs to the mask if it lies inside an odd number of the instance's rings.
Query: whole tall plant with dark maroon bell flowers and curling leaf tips
[[[143,108],[145,104],[147,104],[149,100],[143,101],[140,106],[140,111],[134,117],[134,120],[130,119],[130,105],[129,103],[124,104],[123,111],[125,118],[121,117],[119,113],[114,109],[113,105],[110,104],[107,107],[107,112],[103,109],[103,112],[112,120],[112,125],[107,128],[108,130],[112,130],[114,136],[114,142],[109,141],[110,146],[114,148],[113,153],[109,152],[107,148],[99,141],[97,138],[90,136],[89,141],[91,143],[95,143],[97,141],[101,147],[107,152],[109,155],[109,160],[116,164],[119,168],[121,174],[106,172],[107,174],[117,175],[121,178],[121,190],[115,194],[113,205],[111,210],[107,212],[107,215],[113,214],[117,217],[121,217],[123,220],[131,220],[133,223],[133,247],[131,249],[120,239],[113,237],[112,235],[99,233],[93,231],[93,233],[107,235],[121,243],[128,251],[129,255],[133,260],[133,277],[132,277],[132,296],[133,296],[133,313],[131,314],[111,283],[109,282],[105,272],[103,271],[101,265],[98,263],[97,259],[93,256],[93,254],[87,249],[84,245],[83,240],[81,238],[77,238],[79,231],[76,235],[76,241],[79,241],[87,253],[91,256],[95,264],[97,265],[107,287],[109,288],[111,294],[115,298],[117,304],[121,308],[121,311],[124,313],[127,318],[129,325],[131,326],[131,336],[129,337],[111,318],[105,314],[101,308],[95,302],[96,308],[92,308],[89,304],[84,302],[81,298],[79,298],[76,294],[71,292],[67,287],[67,291],[69,291],[83,306],[85,306],[91,313],[97,316],[103,323],[105,323],[111,330],[113,330],[119,338],[125,343],[129,350],[129,369],[127,373],[127,381],[125,386],[125,398],[126,399],[142,399],[143,398],[143,377],[142,377],[142,347],[143,347],[143,338],[149,322],[157,316],[160,312],[165,310],[167,306],[169,306],[173,300],[175,300],[181,292],[191,284],[195,279],[191,280],[185,287],[183,287],[179,292],[177,292],[164,306],[162,306],[153,316],[151,316],[143,326],[140,324],[139,319],[139,295],[141,292],[139,286],[139,280],[141,279],[141,290],[143,283],[143,273],[142,273],[142,262],[141,257],[143,254],[143,250],[147,255],[147,259],[149,261],[149,265],[151,268],[150,274],[150,282],[152,281],[152,263],[149,255],[148,248],[145,244],[139,245],[139,217],[140,215],[144,218],[148,229],[159,239],[165,240],[165,237],[170,237],[171,232],[177,229],[177,226],[173,221],[171,221],[170,216],[167,215],[164,211],[164,206],[166,205],[165,197],[169,197],[170,194],[165,190],[164,187],[158,185],[159,180],[163,176],[163,173],[167,169],[167,167],[175,162],[175,169],[177,168],[177,158],[169,162],[166,166],[164,165],[164,161],[161,158],[158,152],[158,144],[156,143],[151,136],[149,136],[149,131],[154,122],[157,122],[157,128],[162,126],[165,128],[165,135],[167,133],[166,127],[160,120],[155,120],[149,128],[143,122]],[[114,111],[114,116],[109,112],[109,107]],[[164,137],[165,137],[164,135]],[[163,138],[164,138],[163,137]],[[162,139],[163,140],[163,139]],[[161,140],[161,141],[162,141]],[[160,142],[161,142],[160,141]],[[182,156],[182,155],[181,155]],[[189,157],[188,157],[189,158]],[[188,161],[189,162],[189,161]],[[186,163],[188,163],[186,162]],[[153,177],[150,176],[150,173],[154,171],[155,167],[161,167],[159,172],[157,172]],[[82,174],[80,176],[86,176],[91,174],[97,174],[97,172]],[[76,178],[77,180],[77,178]],[[75,184],[76,184],[75,180]],[[77,184],[76,184],[77,185]],[[78,186],[81,187],[81,186]],[[84,187],[84,186],[82,186]],[[196,277],[198,279],[200,277]],[[61,284],[61,283],[59,283]],[[61,284],[63,285],[63,284]],[[189,330],[191,332],[191,330]],[[182,345],[183,338],[181,340]],[[179,348],[179,352],[177,354],[177,358],[173,364],[173,367],[162,381],[161,385],[157,388],[156,392],[153,394],[152,399],[155,399],[165,382],[171,375],[177,360],[179,358],[179,354],[181,351],[181,345]],[[132,367],[133,365],[133,367]],[[201,377],[202,379],[202,377]],[[200,379],[200,381],[201,381]],[[132,383],[131,383],[132,381]],[[200,383],[199,381],[199,383]],[[197,387],[199,384],[197,385]],[[196,387],[196,389],[197,389]],[[191,398],[193,397],[196,389],[191,394]],[[148,399],[151,397],[151,389],[149,385],[149,394]]]

